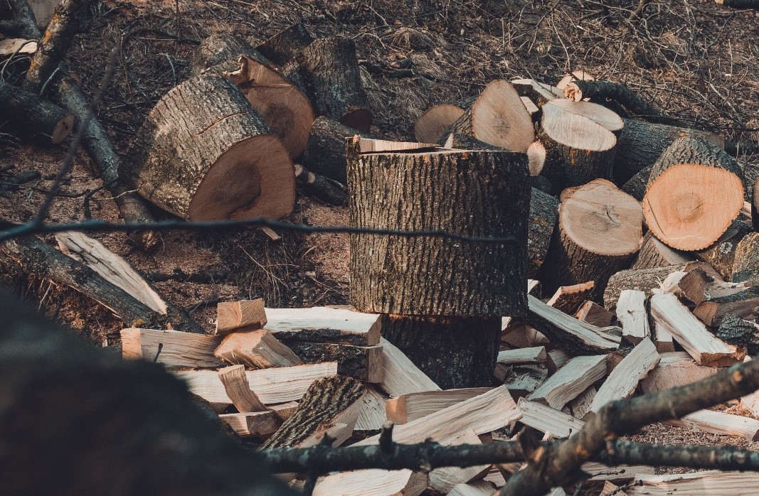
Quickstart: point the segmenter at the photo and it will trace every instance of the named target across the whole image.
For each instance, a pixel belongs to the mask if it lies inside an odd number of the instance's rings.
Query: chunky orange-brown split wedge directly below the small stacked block
[[[235,331],[227,334],[213,351],[219,361],[232,365],[246,365],[255,369],[301,365],[293,350],[279,342],[271,331]]]

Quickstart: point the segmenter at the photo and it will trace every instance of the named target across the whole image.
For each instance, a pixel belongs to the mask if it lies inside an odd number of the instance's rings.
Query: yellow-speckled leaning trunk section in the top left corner
[[[90,0],[63,0],[55,8],[55,14],[47,27],[45,36],[39,39],[37,51],[32,58],[23,88],[39,93],[53,72],[63,61],[74,36],[87,22]]]

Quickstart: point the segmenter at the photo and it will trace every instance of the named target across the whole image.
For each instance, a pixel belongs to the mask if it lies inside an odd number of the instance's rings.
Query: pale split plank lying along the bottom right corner
[[[684,474],[635,476],[625,488],[628,496],[759,496],[759,475],[754,472],[705,470]]]

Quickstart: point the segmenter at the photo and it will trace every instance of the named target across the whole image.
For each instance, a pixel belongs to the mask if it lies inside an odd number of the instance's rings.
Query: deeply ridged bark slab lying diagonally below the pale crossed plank
[[[262,447],[295,446],[364,394],[364,385],[348,377],[333,375],[314,381],[298,403],[298,410]]]

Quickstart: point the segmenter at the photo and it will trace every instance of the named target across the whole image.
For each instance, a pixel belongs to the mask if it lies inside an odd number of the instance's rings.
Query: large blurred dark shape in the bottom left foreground
[[[90,347],[5,292],[0,307],[4,492],[292,494],[161,366]]]

